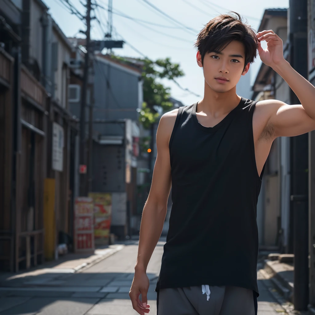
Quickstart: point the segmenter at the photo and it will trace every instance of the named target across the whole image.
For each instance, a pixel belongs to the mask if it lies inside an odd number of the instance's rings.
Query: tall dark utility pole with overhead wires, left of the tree
[[[85,152],[85,108],[86,108],[86,92],[89,79],[89,52],[90,52],[90,30],[91,30],[91,0],[86,2],[86,54],[84,56],[83,84],[81,94],[81,112],[80,112],[80,165],[86,165]],[[80,196],[87,195],[86,174],[80,174]]]

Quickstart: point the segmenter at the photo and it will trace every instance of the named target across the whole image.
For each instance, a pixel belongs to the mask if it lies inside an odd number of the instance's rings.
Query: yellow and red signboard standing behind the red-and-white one
[[[108,244],[111,228],[112,194],[106,192],[90,192],[94,203],[94,237],[98,245]]]

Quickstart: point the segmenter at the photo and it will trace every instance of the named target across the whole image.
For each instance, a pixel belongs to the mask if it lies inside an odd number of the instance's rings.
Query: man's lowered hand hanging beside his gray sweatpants
[[[135,276],[131,284],[129,291],[129,297],[131,299],[132,307],[139,314],[144,315],[150,311],[150,305],[147,304],[147,293],[149,289],[150,281],[145,271],[135,271]],[[142,301],[139,300],[139,295],[142,296]]]

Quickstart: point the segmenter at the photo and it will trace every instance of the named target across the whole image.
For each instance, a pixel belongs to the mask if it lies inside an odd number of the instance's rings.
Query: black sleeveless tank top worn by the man
[[[172,209],[156,291],[208,284],[258,296],[255,101],[242,97],[214,127],[180,107],[169,140]],[[254,293],[255,293],[254,292]]]

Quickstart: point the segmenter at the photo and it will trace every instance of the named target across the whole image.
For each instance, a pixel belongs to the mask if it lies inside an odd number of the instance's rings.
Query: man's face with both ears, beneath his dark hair
[[[197,53],[197,63],[203,67],[203,75],[209,87],[218,93],[224,93],[234,88],[241,75],[249,69],[249,63],[244,69],[245,48],[243,43],[232,41],[221,52],[206,54],[201,63],[201,54]],[[244,69],[244,71],[243,71]],[[226,80],[221,80],[225,78]]]

